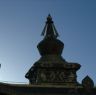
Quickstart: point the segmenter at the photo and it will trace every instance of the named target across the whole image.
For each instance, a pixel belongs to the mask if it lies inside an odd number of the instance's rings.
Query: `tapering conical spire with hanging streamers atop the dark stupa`
[[[45,36],[45,38],[46,37],[57,38],[59,36],[50,14],[47,17],[47,21],[41,35]]]

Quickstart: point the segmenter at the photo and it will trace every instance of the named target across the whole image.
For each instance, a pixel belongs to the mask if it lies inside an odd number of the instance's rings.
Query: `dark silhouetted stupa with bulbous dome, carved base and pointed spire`
[[[43,29],[43,40],[37,45],[41,58],[34,63],[26,74],[30,84],[79,86],[76,71],[78,63],[67,62],[62,57],[64,43],[58,39],[58,32],[48,15]]]

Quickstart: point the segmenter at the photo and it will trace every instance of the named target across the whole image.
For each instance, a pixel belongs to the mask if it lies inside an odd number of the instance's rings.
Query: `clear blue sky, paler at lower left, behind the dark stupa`
[[[96,84],[96,0],[0,0],[0,82],[28,83],[49,13],[65,44],[62,56],[82,65],[78,81],[89,75]]]

